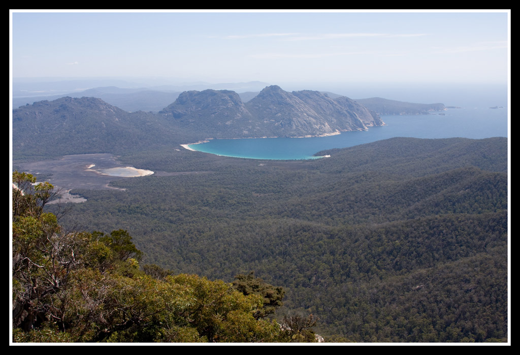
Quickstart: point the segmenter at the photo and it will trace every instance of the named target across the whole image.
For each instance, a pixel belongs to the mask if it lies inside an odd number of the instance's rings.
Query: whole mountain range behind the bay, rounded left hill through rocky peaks
[[[142,100],[141,105],[169,100],[158,113],[128,112],[95,97],[25,104],[13,110],[13,156],[141,151],[207,138],[324,136],[384,125],[370,102],[367,106],[362,100],[311,90],[289,92],[277,85],[247,101],[231,90],[189,90],[162,97],[157,93],[118,87],[85,91],[89,96]],[[436,108],[444,108],[439,105]]]

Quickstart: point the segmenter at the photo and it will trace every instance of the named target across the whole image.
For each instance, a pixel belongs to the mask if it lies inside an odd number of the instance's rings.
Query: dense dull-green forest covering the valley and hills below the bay
[[[132,152],[119,159],[197,173],[73,190],[87,202],[46,211],[67,230],[127,231],[141,264],[171,275],[231,283],[253,271],[283,288],[271,319],[314,319],[326,341],[508,341],[507,139],[394,138],[325,153]]]

